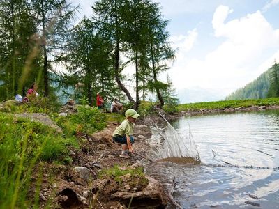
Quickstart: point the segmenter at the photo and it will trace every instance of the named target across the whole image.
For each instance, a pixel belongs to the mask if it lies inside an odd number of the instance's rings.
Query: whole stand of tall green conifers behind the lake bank
[[[36,82],[45,98],[85,97],[91,106],[98,92],[107,101],[128,98],[135,109],[150,95],[160,107],[178,102],[169,77],[159,79],[175,59],[159,4],[91,6],[93,15],[79,21],[70,1],[0,1],[0,100],[24,96]]]

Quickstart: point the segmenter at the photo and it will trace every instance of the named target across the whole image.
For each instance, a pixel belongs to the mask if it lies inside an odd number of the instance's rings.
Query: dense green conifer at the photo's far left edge
[[[0,0],[0,99],[10,99],[15,94],[25,94],[27,85],[38,78],[40,57],[30,60],[37,43],[36,22],[31,4],[23,0]],[[29,72],[22,81],[24,68]],[[40,84],[39,79],[37,79]]]

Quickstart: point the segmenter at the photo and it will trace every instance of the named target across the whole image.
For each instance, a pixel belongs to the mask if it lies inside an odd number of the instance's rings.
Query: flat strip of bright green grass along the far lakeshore
[[[224,100],[217,102],[197,102],[190,104],[179,104],[179,111],[196,111],[200,109],[227,109],[263,105],[279,105],[279,98],[266,98],[259,100]]]

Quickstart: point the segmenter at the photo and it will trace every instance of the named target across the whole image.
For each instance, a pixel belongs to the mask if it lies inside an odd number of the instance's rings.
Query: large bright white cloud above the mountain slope
[[[199,86],[231,93],[257,77],[257,67],[278,49],[279,29],[273,29],[261,12],[225,22],[229,13],[229,7],[219,6],[213,15],[214,35],[225,39],[216,49],[204,59],[176,60],[169,70],[176,88]]]

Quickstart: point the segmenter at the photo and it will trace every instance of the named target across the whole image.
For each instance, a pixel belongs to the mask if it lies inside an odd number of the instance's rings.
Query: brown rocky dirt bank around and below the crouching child
[[[144,125],[144,123],[146,125]],[[124,176],[122,183],[100,171],[120,165],[121,169],[142,167],[144,160],[132,154],[119,157],[121,144],[112,142],[118,123],[108,123],[105,130],[93,135],[77,133],[80,150],[70,150],[73,162],[68,165],[44,164],[40,187],[40,208],[165,208],[170,201],[163,187],[149,176]],[[151,131],[146,121],[135,125],[133,149],[144,157],[149,150]],[[152,158],[152,157],[151,157]],[[38,167],[38,169],[40,169]],[[34,176],[35,179],[40,176]],[[34,185],[35,187],[35,185]],[[31,188],[31,189],[34,189]],[[33,193],[33,192],[31,192]]]

